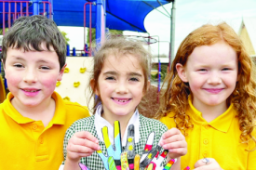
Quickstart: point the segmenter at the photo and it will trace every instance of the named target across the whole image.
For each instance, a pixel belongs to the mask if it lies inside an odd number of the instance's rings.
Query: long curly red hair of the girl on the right
[[[236,83],[233,93],[227,98],[227,104],[234,103],[238,112],[237,118],[242,132],[241,141],[248,142],[249,139],[252,139],[256,143],[255,138],[251,135],[254,128],[253,121],[256,117],[254,63],[238,35],[224,22],[217,26],[203,25],[182,41],[172,62],[171,71],[165,80],[165,83],[168,83],[168,87],[167,89],[162,89],[160,110],[156,113],[155,118],[159,119],[172,111],[175,113],[174,121],[176,126],[184,135],[187,135],[186,132],[189,128],[193,128],[190,117],[185,112],[189,107],[188,96],[191,94],[191,90],[187,83],[182,82],[175,66],[177,63],[185,66],[187,59],[196,46],[210,46],[220,41],[224,41],[231,46],[236,51],[238,58],[239,81]]]

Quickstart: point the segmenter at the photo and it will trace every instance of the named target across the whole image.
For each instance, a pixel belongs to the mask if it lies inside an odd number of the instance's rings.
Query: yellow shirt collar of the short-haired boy
[[[11,93],[8,93],[7,99],[3,102],[3,108],[6,114],[18,124],[35,122],[33,119],[23,117],[20,112],[12,106],[10,102],[12,98],[14,98],[14,96]],[[55,100],[55,113],[48,125],[51,126],[52,124],[64,124],[66,120],[65,103],[57,92],[53,92],[51,98]]]

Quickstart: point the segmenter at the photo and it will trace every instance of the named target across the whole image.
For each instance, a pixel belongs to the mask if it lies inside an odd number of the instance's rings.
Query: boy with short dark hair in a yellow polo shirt
[[[53,20],[20,17],[3,39],[10,93],[0,105],[0,169],[55,170],[67,128],[88,109],[54,92],[66,67],[66,44]]]

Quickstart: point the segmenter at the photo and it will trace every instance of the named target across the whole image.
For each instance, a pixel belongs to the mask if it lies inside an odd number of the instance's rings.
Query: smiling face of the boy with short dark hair
[[[43,49],[47,49],[45,46]],[[5,72],[9,91],[16,107],[36,107],[50,100],[64,67],[56,52],[23,51],[8,48]]]

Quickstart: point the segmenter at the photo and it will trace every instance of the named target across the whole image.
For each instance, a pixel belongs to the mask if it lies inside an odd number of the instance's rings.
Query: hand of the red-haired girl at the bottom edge
[[[195,170],[222,170],[222,167],[215,159],[204,158],[195,163]]]

